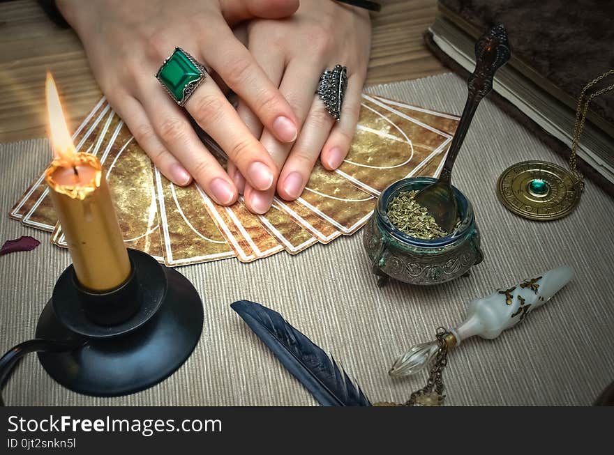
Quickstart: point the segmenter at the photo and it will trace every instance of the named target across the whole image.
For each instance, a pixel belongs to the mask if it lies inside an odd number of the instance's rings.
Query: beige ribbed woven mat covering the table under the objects
[[[464,82],[440,75],[371,87],[376,94],[460,113]],[[0,145],[2,240],[28,234],[43,241],[33,252],[0,258],[0,350],[33,336],[68,253],[48,234],[6,213],[49,159],[45,139]],[[408,346],[433,337],[438,325],[462,320],[467,302],[495,288],[561,264],[576,279],[525,323],[499,339],[472,339],[451,353],[444,373],[448,405],[587,405],[614,379],[614,201],[587,182],[578,209],[565,219],[530,222],[497,201],[495,182],[514,162],[563,164],[521,125],[488,100],[465,140],[455,184],[474,203],[485,260],[470,277],[434,288],[391,283],[378,289],[361,232],[298,256],[277,254],[180,268],[200,291],[205,321],[200,344],[170,379],[112,399],[60,387],[30,355],[8,383],[12,405],[313,405],[315,401],[230,309],[248,299],[280,311],[339,360],[372,401],[405,401],[425,375],[394,380],[387,370]]]

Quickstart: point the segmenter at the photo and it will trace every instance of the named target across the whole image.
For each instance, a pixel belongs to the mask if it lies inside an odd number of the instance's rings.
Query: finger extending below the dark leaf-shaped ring
[[[277,192],[283,199],[293,201],[301,195],[334,123],[324,103],[316,98],[279,176]]]

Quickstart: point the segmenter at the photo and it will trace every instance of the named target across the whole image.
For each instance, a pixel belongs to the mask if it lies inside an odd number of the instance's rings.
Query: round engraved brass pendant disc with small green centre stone
[[[497,181],[497,196],[505,208],[536,221],[566,217],[578,205],[581,194],[574,174],[545,161],[513,164]]]

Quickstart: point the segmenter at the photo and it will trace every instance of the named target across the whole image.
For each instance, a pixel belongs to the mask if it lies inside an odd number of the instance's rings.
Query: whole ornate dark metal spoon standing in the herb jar
[[[435,183],[416,194],[417,203],[426,208],[440,228],[447,233],[454,229],[458,218],[458,207],[451,183],[454,161],[458,156],[458,151],[461,150],[465,134],[467,134],[479,102],[493,89],[495,71],[510,57],[504,26],[494,26],[479,38],[475,44],[475,56],[475,70],[467,80],[469,95],[444,167]]]

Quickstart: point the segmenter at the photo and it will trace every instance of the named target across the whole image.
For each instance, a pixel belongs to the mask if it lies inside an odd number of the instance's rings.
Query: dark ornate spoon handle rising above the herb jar
[[[454,161],[465,140],[479,102],[493,89],[495,71],[509,60],[510,55],[507,33],[503,25],[494,26],[475,43],[475,70],[467,81],[469,91],[467,102],[465,102],[465,109],[461,115],[461,122],[452,139],[440,180],[450,179]]]

